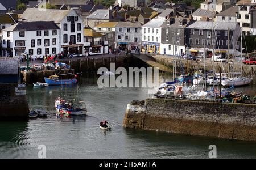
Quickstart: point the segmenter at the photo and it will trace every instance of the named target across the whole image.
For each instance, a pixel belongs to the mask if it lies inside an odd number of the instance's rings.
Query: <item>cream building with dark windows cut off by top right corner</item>
[[[237,2],[238,12],[237,12],[237,22],[240,24],[245,35],[256,35],[253,32],[253,15],[251,10],[256,6],[256,0],[242,0]]]

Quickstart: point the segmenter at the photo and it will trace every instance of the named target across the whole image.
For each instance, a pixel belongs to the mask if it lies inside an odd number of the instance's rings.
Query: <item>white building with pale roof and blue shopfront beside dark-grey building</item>
[[[150,53],[160,53],[161,25],[165,19],[152,19],[142,26],[142,50]]]

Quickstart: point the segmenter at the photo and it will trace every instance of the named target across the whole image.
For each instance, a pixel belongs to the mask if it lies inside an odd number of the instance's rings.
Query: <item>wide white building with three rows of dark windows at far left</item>
[[[60,52],[60,29],[54,22],[19,22],[2,30],[3,57],[31,57]]]

